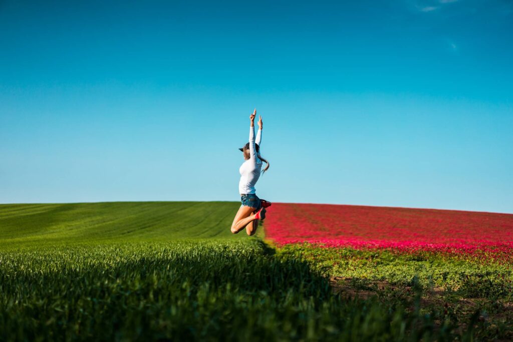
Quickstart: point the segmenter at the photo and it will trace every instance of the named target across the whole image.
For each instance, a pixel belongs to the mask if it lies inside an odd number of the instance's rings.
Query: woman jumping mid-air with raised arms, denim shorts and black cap
[[[246,160],[239,169],[241,173],[241,180],[239,182],[239,193],[241,194],[242,205],[233,219],[231,225],[231,232],[236,234],[246,228],[248,235],[253,235],[257,232],[257,227],[260,219],[265,218],[265,208],[271,204],[265,199],[260,199],[255,194],[255,184],[260,177],[261,172],[269,169],[269,162],[260,156],[260,145],[262,141],[262,116],[259,116],[258,126],[259,130],[255,142],[255,127],[254,119],[257,116],[257,109],[253,114],[249,115],[249,143],[239,150],[242,151],[244,159]],[[262,171],[262,162],[266,162],[267,166]]]

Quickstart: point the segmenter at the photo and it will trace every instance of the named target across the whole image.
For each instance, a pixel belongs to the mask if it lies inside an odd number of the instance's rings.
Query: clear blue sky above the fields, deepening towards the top
[[[0,203],[513,213],[509,1],[0,2]]]

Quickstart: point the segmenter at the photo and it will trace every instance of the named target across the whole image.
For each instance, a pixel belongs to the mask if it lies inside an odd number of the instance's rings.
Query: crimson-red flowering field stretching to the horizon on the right
[[[273,203],[265,223],[277,245],[390,248],[513,260],[513,214]]]

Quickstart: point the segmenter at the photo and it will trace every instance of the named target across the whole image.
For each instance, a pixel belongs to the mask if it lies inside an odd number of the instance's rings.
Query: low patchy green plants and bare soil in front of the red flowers
[[[475,340],[513,338],[513,265],[509,263],[433,251],[309,244],[286,245],[280,253],[306,260],[343,296],[372,296],[389,307],[410,303],[435,324],[448,320],[460,332],[474,321]],[[414,293],[418,298],[412,303]]]

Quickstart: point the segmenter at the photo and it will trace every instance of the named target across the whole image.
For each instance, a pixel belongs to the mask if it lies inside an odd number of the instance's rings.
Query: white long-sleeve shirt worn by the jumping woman
[[[255,184],[257,184],[257,180],[260,178],[262,159],[260,159],[259,153],[255,149],[255,143],[258,144],[259,151],[261,151],[262,130],[258,130],[257,138],[255,139],[255,128],[253,126],[249,127],[249,159],[242,163],[239,168],[241,173],[241,180],[239,181],[240,194],[254,194],[256,192]]]

